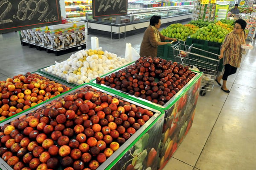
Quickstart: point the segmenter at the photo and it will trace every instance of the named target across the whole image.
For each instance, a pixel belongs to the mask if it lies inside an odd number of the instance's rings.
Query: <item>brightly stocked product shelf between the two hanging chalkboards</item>
[[[92,1],[65,0],[65,12],[67,18],[85,17],[87,12],[92,12]]]

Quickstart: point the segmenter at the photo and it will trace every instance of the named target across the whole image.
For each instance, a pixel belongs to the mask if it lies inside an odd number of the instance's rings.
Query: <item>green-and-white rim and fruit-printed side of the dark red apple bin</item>
[[[120,68],[114,72],[122,69],[123,68]],[[108,75],[111,75],[112,73],[109,73]],[[102,77],[108,75],[104,75]],[[101,89],[105,89],[106,91],[116,90],[116,94],[123,98],[129,98],[138,103],[145,102],[146,106],[157,110],[163,110],[165,112],[159,150],[159,161],[157,164],[157,169],[161,170],[177,150],[177,147],[183,141],[183,138],[192,126],[201,80],[202,73],[197,72],[197,74],[163,106],[120,90],[113,89],[109,86],[105,86],[104,84],[97,84],[96,80],[93,80],[90,83]]]

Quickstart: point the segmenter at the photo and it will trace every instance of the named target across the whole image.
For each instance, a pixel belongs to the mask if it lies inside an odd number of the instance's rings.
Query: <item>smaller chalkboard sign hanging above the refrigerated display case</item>
[[[128,0],[93,0],[93,18],[127,15]]]

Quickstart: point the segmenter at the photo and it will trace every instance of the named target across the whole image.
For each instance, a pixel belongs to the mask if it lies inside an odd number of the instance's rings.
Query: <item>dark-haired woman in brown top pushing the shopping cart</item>
[[[153,15],[150,19],[150,23],[148,28],[144,32],[143,40],[140,45],[140,56],[141,57],[149,57],[152,58],[157,57],[157,46],[166,45],[171,42],[162,42],[165,40],[175,40],[176,38],[169,38],[161,35],[158,29],[161,26],[161,17],[157,15]]]

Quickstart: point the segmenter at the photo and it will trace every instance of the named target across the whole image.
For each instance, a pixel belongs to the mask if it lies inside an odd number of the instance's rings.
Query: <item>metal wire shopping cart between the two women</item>
[[[214,81],[218,74],[219,59],[218,54],[207,52],[180,42],[171,44],[173,50],[173,62],[181,63],[183,66],[189,66],[192,70],[203,72],[200,95],[206,95],[207,91],[212,91]]]

